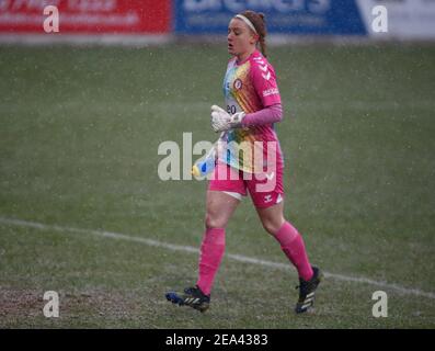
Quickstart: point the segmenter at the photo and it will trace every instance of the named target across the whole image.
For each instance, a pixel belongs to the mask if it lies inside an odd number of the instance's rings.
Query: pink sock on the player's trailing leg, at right
[[[284,253],[298,270],[299,276],[305,281],[309,281],[313,272],[308,261],[302,237],[298,230],[291,224],[285,222],[275,234],[275,238],[281,244]]]

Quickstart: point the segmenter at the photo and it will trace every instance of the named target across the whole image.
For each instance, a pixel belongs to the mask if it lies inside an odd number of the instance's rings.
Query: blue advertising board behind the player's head
[[[174,0],[179,34],[227,33],[232,15],[263,12],[268,33],[366,35],[354,0]]]

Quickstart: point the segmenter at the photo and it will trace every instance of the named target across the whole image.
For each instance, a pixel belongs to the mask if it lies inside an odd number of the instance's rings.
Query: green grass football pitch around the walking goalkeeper
[[[93,235],[199,247],[206,183],[161,181],[158,147],[216,139],[227,58],[225,45],[0,47],[1,328],[435,327],[433,46],[270,49],[285,214],[330,273],[313,314],[293,313],[293,267],[231,259],[287,262],[249,199],[206,314],[164,299],[195,282],[196,252]],[[43,316],[49,290],[59,318]],[[387,318],[371,315],[378,290]]]

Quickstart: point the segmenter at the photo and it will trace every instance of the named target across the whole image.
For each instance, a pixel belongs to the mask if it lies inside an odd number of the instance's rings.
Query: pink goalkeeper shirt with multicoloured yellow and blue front
[[[225,148],[219,151],[219,160],[249,173],[263,172],[266,167],[283,167],[274,124],[249,123],[249,114],[281,104],[275,70],[259,50],[241,63],[237,63],[236,57],[229,60],[224,94],[227,112],[245,112],[248,123],[224,134]]]

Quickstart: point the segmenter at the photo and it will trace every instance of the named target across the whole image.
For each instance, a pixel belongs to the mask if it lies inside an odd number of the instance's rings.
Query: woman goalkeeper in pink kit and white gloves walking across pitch
[[[284,218],[284,161],[274,123],[283,118],[275,70],[266,59],[264,15],[244,11],[228,26],[228,63],[224,79],[226,109],[211,106],[211,127],[222,133],[209,181],[198,280],[184,293],[167,293],[174,304],[204,312],[225,251],[225,230],[249,192],[264,229],[279,244],[299,274],[296,313],[314,302],[321,272],[308,260],[298,230]],[[260,50],[257,49],[260,48]]]

